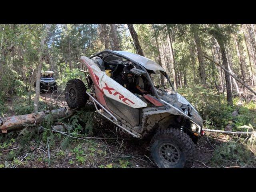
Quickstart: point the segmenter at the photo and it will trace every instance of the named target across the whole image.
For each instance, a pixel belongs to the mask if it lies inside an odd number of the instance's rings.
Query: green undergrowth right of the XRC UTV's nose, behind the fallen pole
[[[231,123],[234,131],[243,131],[238,126],[249,123],[256,126],[256,112],[253,111],[256,109],[256,103],[254,102],[244,102],[242,106],[236,106],[239,100],[234,98],[234,106],[228,106],[226,102],[219,104],[217,92],[202,86],[188,86],[179,89],[178,92],[196,107],[207,127],[224,128]],[[220,98],[223,100],[222,96]],[[238,110],[238,116],[232,116],[234,110]]]

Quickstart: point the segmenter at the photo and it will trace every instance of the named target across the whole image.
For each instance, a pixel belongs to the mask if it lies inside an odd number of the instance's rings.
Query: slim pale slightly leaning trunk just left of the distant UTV
[[[34,100],[34,112],[38,111],[38,101],[39,101],[39,95],[40,95],[40,77],[41,77],[41,71],[42,71],[42,60],[44,58],[44,42],[48,33],[48,29],[50,28],[50,24],[46,24],[44,31],[41,36],[41,42],[40,42],[40,59],[38,64],[38,70],[36,75],[36,96]]]

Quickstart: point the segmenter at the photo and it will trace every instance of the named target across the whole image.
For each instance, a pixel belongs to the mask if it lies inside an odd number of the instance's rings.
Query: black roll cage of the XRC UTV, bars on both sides
[[[112,51],[112,50],[104,50],[104,51],[102,51],[102,52],[98,52],[98,53],[96,53],[96,54],[90,56],[89,58],[90,58],[90,59],[91,59],[91,58],[94,58],[94,57],[99,56],[100,54],[103,54],[103,53],[109,53],[109,54],[106,55],[106,56],[103,56],[103,57],[102,57],[102,60],[104,60],[104,59],[105,59],[106,57],[108,57],[108,56],[116,55],[116,56],[122,57],[122,58],[124,58],[124,59],[130,60],[130,61],[136,66],[136,68],[138,68],[138,69],[140,69],[140,70],[143,70],[143,71],[146,73],[147,80],[148,80],[148,82],[150,83],[150,86],[152,87],[153,96],[156,96],[156,98],[160,99],[158,93],[156,92],[156,88],[155,88],[155,86],[154,86],[154,83],[152,82],[152,80],[151,80],[151,78],[150,78],[150,76],[149,76],[149,74],[148,74],[148,71],[147,71],[147,69],[146,69],[144,66],[142,66],[141,64],[139,64],[139,63],[136,62],[135,60],[132,60],[131,58],[126,57],[126,56],[124,56],[124,55],[122,55],[122,54],[119,54],[119,53],[117,53],[117,52],[114,52],[114,51]],[[99,56],[99,57],[100,57],[100,56]],[[101,58],[101,57],[100,57],[100,58]],[[173,86],[173,84],[172,84],[170,78],[168,77],[167,73],[164,72],[164,71],[160,71],[160,72],[161,72],[161,73],[163,74],[163,76],[168,80],[168,82],[169,82],[170,85],[172,86],[172,89],[175,91],[174,86]]]

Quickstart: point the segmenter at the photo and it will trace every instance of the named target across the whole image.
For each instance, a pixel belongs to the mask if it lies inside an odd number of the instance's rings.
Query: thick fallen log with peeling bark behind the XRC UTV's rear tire
[[[74,114],[74,110],[69,108],[60,108],[50,111],[41,111],[25,115],[0,118],[0,130],[2,133],[26,128],[31,125],[40,124],[47,116],[51,115],[53,119],[69,117]]]

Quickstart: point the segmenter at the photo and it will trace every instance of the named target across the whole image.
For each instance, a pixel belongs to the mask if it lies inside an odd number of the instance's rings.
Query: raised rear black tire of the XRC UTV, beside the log
[[[65,88],[65,98],[72,109],[84,107],[89,99],[84,83],[80,79],[69,80]]]

